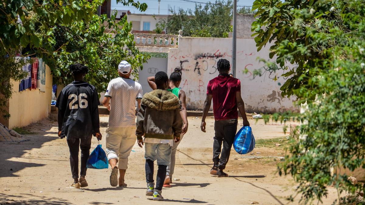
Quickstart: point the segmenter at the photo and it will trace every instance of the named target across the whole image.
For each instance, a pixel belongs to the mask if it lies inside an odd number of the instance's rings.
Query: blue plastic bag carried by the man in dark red
[[[233,148],[238,154],[250,153],[255,148],[255,138],[250,126],[243,126],[234,137]]]

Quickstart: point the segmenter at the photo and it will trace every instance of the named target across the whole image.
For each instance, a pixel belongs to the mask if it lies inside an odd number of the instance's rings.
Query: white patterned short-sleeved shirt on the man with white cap
[[[105,97],[110,97],[110,127],[136,126],[135,102],[143,97],[141,84],[129,78],[114,78],[109,82]]]

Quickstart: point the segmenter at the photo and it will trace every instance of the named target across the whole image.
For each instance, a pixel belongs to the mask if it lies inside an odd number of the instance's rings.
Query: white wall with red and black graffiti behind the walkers
[[[231,38],[191,38],[179,39],[179,47],[170,49],[168,75],[176,66],[183,66],[180,87],[187,93],[188,109],[203,109],[207,84],[218,76],[216,63],[225,58],[231,62]],[[253,70],[264,66],[257,58],[269,57],[269,46],[257,52],[254,39],[237,39],[237,78],[241,80],[241,93],[246,112],[299,111],[293,105],[295,97],[282,98],[280,86],[285,82],[283,71],[270,73],[263,70],[262,76],[253,76]],[[243,73],[247,68],[249,73]],[[274,81],[273,78],[278,80]]]

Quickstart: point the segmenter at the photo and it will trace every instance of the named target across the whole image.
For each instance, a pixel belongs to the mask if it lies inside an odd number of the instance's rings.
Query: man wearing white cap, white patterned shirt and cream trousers
[[[124,175],[128,165],[128,156],[136,142],[135,101],[141,107],[142,86],[130,79],[131,64],[122,61],[118,66],[118,78],[109,82],[103,105],[110,111],[106,136],[106,148],[109,164],[112,168],[110,185],[126,187]],[[118,167],[116,166],[118,162]],[[119,181],[118,181],[119,169]]]

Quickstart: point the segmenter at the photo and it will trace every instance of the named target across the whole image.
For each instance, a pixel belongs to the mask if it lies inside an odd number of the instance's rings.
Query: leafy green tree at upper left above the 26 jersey
[[[138,76],[138,67],[148,56],[140,54],[130,34],[131,23],[126,17],[120,21],[115,15],[96,15],[96,9],[104,0],[5,0],[0,4],[0,112],[13,92],[9,80],[20,80],[24,73],[20,67],[31,59],[43,58],[53,74],[56,84],[68,84],[72,76],[68,66],[84,63],[89,67],[86,80],[97,90],[106,89],[111,78],[118,75],[117,65],[126,59]],[[117,0],[145,11],[147,5],[133,0]],[[106,26],[104,26],[106,25]],[[105,30],[110,30],[105,32]]]

